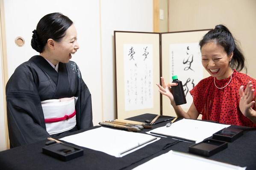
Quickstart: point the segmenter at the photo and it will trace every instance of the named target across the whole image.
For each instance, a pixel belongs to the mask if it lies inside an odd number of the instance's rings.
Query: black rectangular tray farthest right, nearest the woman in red
[[[214,133],[212,138],[220,141],[232,142],[239,138],[241,135],[243,135],[243,130],[235,128],[224,128],[223,130]]]

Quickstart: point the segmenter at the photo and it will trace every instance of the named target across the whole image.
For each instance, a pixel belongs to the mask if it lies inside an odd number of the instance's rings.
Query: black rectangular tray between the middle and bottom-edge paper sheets
[[[206,139],[198,144],[193,144],[188,147],[190,153],[195,153],[202,156],[212,156],[227,148],[227,142],[214,139]]]

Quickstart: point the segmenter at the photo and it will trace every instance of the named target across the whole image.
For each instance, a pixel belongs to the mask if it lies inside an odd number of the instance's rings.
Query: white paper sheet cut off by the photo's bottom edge
[[[171,162],[171,163],[170,163]],[[135,167],[133,170],[245,170],[246,167],[238,167],[206,158],[193,156],[186,153],[169,151],[144,164]]]

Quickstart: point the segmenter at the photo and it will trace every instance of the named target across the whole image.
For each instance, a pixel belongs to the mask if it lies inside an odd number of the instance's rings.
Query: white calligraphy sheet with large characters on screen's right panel
[[[170,44],[170,80],[177,75],[182,81],[187,104],[182,107],[189,108],[193,102],[189,91],[203,79],[203,66],[201,52],[197,43]]]

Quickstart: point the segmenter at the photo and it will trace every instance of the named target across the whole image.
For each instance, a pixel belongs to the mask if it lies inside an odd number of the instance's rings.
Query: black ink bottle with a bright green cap
[[[172,81],[173,83],[178,84],[177,86],[171,86],[171,91],[174,96],[174,101],[175,101],[176,106],[180,105],[180,104],[186,104],[187,101],[186,101],[182,82],[178,80],[177,75],[172,76],[172,79],[173,79],[173,81]]]

